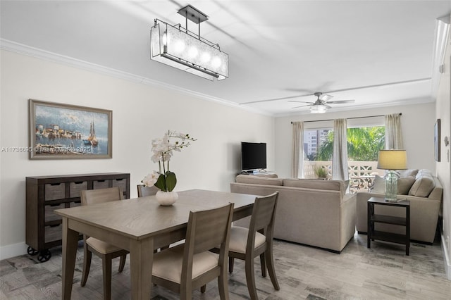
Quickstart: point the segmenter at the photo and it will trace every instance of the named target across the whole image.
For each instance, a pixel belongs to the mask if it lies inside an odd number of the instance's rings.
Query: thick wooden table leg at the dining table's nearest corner
[[[149,300],[154,262],[154,238],[130,241],[130,286],[132,299]]]

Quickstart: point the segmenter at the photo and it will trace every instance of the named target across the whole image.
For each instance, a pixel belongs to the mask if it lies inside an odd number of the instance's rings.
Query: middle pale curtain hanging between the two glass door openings
[[[346,119],[333,120],[333,156],[332,179],[349,180],[347,170],[347,121]]]

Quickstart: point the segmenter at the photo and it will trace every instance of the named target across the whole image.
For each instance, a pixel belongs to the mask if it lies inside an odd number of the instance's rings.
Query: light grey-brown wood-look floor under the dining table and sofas
[[[46,263],[35,256],[18,256],[0,262],[0,299],[60,299],[61,249],[51,249]],[[446,279],[440,244],[411,244],[410,256],[402,245],[372,242],[356,235],[341,254],[276,240],[274,257],[280,291],[269,277],[261,277],[255,260],[259,299],[451,299],[451,281]],[[129,260],[128,260],[129,262]],[[130,299],[130,268],[117,273],[113,261],[112,299]],[[82,248],[79,248],[72,299],[103,299],[101,261],[93,258],[85,287],[80,287]],[[235,261],[229,277],[231,300],[249,299],[244,264]],[[178,299],[162,287],[152,287],[152,299]],[[216,282],[206,293],[193,292],[193,299],[219,299]]]

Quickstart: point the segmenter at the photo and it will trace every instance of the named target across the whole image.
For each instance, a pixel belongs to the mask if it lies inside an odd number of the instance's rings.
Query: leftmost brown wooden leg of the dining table
[[[63,273],[61,274],[63,292],[61,299],[70,299],[73,285],[73,271],[77,257],[78,232],[68,227],[68,218],[63,218]]]

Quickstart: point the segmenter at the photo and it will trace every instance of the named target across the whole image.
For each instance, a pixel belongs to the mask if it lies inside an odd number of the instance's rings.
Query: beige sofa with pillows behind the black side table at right
[[[416,172],[418,173],[416,173]],[[429,170],[412,170],[416,175],[398,180],[398,199],[410,201],[410,239],[428,244],[433,243],[437,227],[443,187]],[[407,174],[407,175],[412,175]],[[367,232],[367,201],[373,196],[384,198],[384,182],[376,177],[371,192],[357,192],[357,231]],[[404,208],[376,206],[375,213],[404,216]],[[404,233],[405,228],[397,225],[376,224],[376,230]]]

